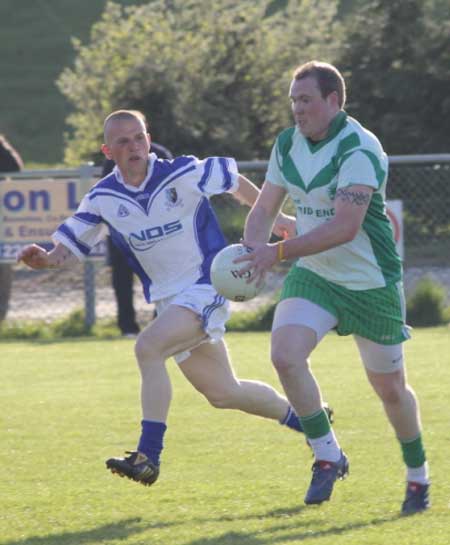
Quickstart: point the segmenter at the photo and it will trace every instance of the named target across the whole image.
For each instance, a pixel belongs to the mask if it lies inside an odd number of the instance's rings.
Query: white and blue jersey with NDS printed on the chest
[[[234,159],[150,154],[139,187],[126,184],[115,167],[53,239],[83,259],[109,231],[139,276],[146,300],[157,301],[211,282],[211,261],[226,241],[209,197],[234,192],[238,184]]]

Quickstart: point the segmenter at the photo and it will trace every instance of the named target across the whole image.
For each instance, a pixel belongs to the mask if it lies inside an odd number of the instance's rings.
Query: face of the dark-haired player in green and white
[[[325,138],[332,119],[339,111],[337,93],[333,91],[323,98],[316,78],[311,76],[292,80],[289,98],[300,132],[314,141]]]

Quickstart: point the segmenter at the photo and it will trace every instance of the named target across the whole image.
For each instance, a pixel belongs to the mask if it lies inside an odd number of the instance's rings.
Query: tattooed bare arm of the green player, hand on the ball
[[[318,254],[350,242],[364,221],[372,192],[372,188],[363,185],[338,189],[335,197],[336,214],[332,220],[291,240],[259,245],[254,252],[239,258],[236,262],[248,261],[247,267],[241,270],[244,272],[254,268],[257,274],[262,275],[280,259]],[[250,232],[249,235],[251,234]],[[247,241],[246,236],[245,243],[247,242],[250,245],[251,239]]]

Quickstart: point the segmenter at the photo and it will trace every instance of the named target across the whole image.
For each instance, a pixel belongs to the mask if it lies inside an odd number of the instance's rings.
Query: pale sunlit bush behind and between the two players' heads
[[[72,104],[66,161],[92,158],[104,117],[138,108],[156,141],[175,153],[266,157],[291,123],[292,69],[313,57],[334,61],[336,2],[155,0],[109,2],[88,44],[75,41],[58,85]],[[280,7],[280,6],[279,6]]]

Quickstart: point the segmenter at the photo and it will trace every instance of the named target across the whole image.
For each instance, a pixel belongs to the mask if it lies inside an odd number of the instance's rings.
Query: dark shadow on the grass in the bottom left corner
[[[1,545],[87,545],[90,543],[109,543],[111,540],[125,540],[132,535],[147,531],[149,526],[140,525],[141,520],[140,518],[130,518],[120,522],[105,524],[91,530],[27,537],[13,541],[0,541],[0,543]],[[172,523],[161,522],[151,524],[150,527],[166,528],[172,525]]]

